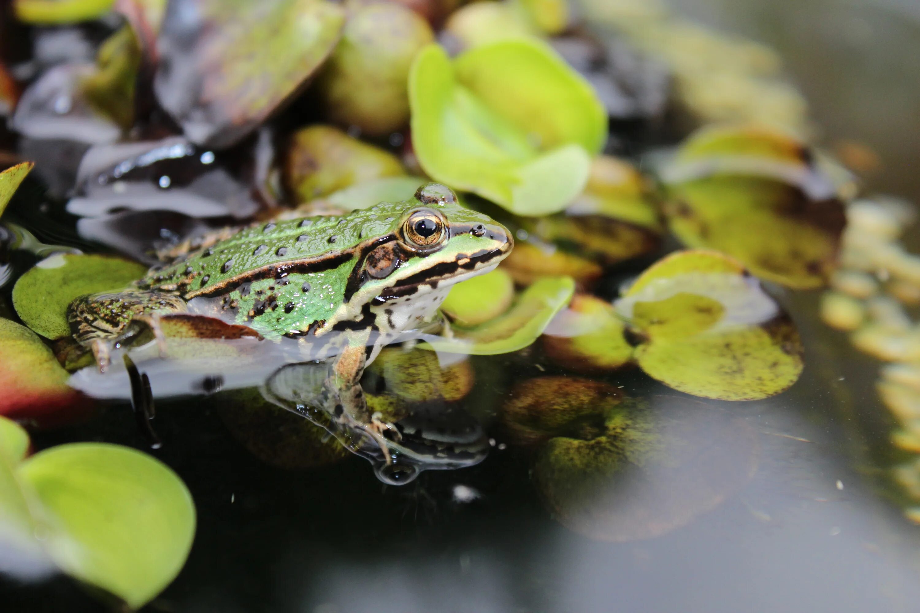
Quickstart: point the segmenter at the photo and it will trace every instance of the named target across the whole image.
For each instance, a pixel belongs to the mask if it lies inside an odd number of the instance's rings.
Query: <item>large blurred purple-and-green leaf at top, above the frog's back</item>
[[[171,2],[154,90],[197,144],[239,142],[326,60],[344,23],[325,0]]]

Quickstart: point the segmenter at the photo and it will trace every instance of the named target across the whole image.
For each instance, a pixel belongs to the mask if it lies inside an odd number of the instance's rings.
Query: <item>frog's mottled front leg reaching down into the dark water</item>
[[[381,414],[370,413],[361,387],[361,376],[367,364],[369,349],[374,350],[370,345],[370,331],[349,331],[344,334],[347,335],[347,343],[332,366],[329,385],[339,401],[333,408],[333,417],[350,422],[373,438],[389,464],[392,459],[383,433],[389,430],[398,438],[399,431],[396,426],[385,423]]]

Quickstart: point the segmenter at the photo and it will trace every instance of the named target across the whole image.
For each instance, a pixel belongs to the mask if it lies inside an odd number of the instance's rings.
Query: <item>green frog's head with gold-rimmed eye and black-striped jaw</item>
[[[352,270],[345,291],[352,312],[371,301],[413,301],[445,289],[497,267],[512,250],[507,228],[461,207],[443,185],[429,183],[415,199],[385,207],[397,214]],[[436,293],[443,298],[445,291]]]

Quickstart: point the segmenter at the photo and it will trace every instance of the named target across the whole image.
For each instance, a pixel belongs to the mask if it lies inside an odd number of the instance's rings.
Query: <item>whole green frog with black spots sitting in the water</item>
[[[405,202],[268,222],[211,243],[129,289],[75,300],[68,318],[76,340],[104,369],[111,350],[144,329],[165,346],[159,317],[175,312],[245,325],[267,340],[297,339],[304,362],[328,358],[314,403],[352,439],[373,440],[387,465],[401,434],[368,410],[365,365],[400,335],[437,325],[450,287],[492,270],[512,249],[503,226],[437,184]]]

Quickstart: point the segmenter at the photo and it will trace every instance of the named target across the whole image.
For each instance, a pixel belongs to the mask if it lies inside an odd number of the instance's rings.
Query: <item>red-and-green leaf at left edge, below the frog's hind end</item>
[[[60,426],[91,404],[67,384],[69,375],[29,328],[0,319],[0,415],[37,426]]]

